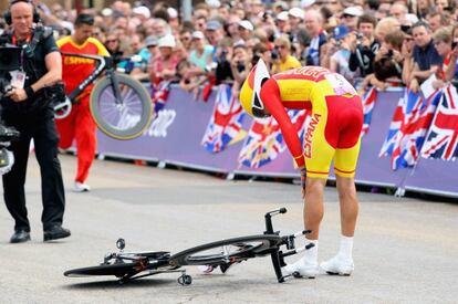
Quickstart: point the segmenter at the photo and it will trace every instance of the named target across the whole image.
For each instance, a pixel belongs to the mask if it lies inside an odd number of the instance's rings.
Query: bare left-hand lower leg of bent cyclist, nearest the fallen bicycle
[[[303,217],[305,229],[312,230],[306,235],[309,240],[319,239],[320,223],[323,219],[323,192],[325,186],[325,178],[306,178]]]

